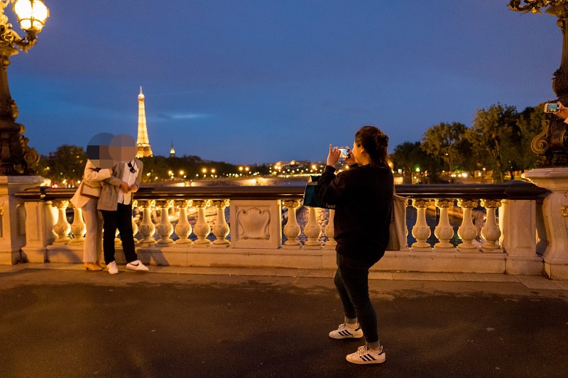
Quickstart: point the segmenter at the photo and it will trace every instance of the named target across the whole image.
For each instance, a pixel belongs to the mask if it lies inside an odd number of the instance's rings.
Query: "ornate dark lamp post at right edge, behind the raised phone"
[[[524,4],[521,5],[521,2]],[[557,101],[568,104],[568,0],[510,0],[509,8],[513,11],[545,13],[558,17],[557,24],[562,29],[562,60],[560,68],[554,73],[552,90],[558,96]],[[549,116],[542,122],[542,132],[535,136],[531,149],[540,156],[540,167],[568,166],[568,130],[567,124],[555,116]]]

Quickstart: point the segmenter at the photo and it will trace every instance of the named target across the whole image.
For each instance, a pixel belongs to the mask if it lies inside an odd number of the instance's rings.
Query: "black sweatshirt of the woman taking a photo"
[[[335,250],[374,264],[385,253],[393,209],[393,172],[370,165],[351,165],[335,174],[327,165],[317,182],[317,195],[334,204]]]

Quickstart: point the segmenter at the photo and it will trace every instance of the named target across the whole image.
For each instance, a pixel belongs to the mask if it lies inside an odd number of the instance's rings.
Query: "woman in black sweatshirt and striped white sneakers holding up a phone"
[[[385,361],[377,317],[368,295],[368,270],[383,257],[393,207],[393,173],[388,166],[388,136],[374,126],[355,134],[343,157],[349,169],[335,174],[341,152],[329,145],[327,165],[317,184],[322,201],[335,205],[337,272],[334,284],[344,308],[344,323],[330,338],[365,337],[365,345],[346,356],[355,364]]]

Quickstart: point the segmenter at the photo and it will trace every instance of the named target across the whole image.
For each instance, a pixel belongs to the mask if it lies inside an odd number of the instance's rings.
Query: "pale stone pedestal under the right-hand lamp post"
[[[568,279],[568,167],[533,169],[523,177],[551,191],[542,204],[548,240],[542,259],[548,277]]]

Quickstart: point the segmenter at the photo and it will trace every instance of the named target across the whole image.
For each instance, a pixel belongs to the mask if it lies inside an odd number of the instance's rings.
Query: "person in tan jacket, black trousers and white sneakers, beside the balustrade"
[[[104,219],[103,250],[104,262],[110,274],[119,269],[114,260],[114,234],[119,229],[122,250],[126,257],[126,269],[148,270],[138,260],[134,250],[132,230],[132,193],[138,191],[142,176],[143,163],[136,158],[128,162],[119,162],[112,169],[111,177],[104,180],[99,198],[98,209]]]

